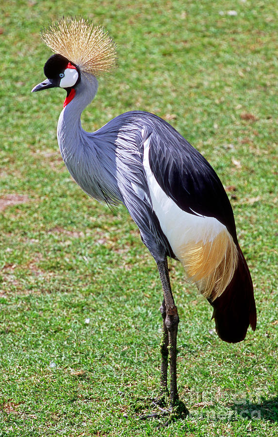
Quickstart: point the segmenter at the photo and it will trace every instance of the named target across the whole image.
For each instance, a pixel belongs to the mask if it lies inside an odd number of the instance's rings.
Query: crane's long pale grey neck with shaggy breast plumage
[[[60,114],[58,144],[68,171],[86,193],[100,202],[118,203],[122,198],[115,179],[114,142],[81,126],[82,111],[97,90],[97,79],[82,74],[73,100]]]

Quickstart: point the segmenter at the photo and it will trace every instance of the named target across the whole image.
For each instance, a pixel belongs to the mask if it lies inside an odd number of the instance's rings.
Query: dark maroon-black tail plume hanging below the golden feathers
[[[238,246],[238,263],[233,278],[225,291],[215,301],[213,317],[217,335],[228,343],[245,339],[248,326],[255,331],[256,304],[251,275],[245,257]]]

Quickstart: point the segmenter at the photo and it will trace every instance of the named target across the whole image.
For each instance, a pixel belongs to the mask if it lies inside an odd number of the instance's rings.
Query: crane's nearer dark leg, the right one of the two
[[[170,362],[170,404],[172,407],[179,401],[177,388],[177,333],[179,324],[178,310],[172,295],[167,257],[157,262],[158,271],[163,287],[166,317],[164,323],[168,332],[168,350]]]

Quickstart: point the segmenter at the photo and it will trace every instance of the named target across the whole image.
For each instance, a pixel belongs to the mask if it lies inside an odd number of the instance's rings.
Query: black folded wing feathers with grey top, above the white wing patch
[[[149,163],[158,184],[183,211],[217,218],[237,243],[229,198],[212,166],[166,121],[151,121]]]

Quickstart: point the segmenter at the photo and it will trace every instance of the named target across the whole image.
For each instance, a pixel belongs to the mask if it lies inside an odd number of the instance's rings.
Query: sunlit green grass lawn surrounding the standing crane
[[[0,212],[0,436],[277,435],[276,2],[77,3],[0,7],[0,200],[14,201]],[[71,180],[56,140],[65,93],[31,95],[50,55],[40,28],[63,15],[104,24],[118,46],[83,127],[154,112],[234,186],[258,327],[221,342],[211,308],[171,263],[190,417],[163,429],[137,419],[159,386],[155,262],[124,207],[99,205]]]

